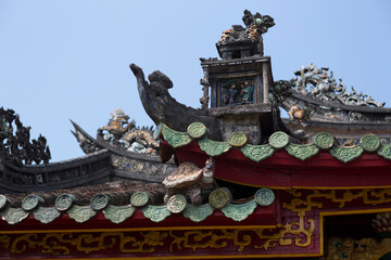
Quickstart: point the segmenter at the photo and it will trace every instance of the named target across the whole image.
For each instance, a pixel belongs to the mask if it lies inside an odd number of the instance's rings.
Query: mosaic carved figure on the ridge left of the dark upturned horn
[[[98,129],[98,139],[133,153],[157,154],[159,143],[152,138],[152,127],[140,129],[135,120],[128,122],[129,116],[121,108],[110,115],[109,123]]]

